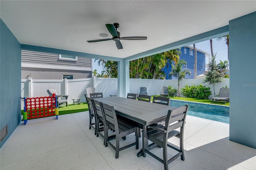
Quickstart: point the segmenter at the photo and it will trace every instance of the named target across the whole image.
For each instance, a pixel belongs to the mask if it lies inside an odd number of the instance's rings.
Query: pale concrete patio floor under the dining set
[[[88,128],[87,112],[21,122],[1,148],[1,170],[156,170],[163,164],[150,155],[138,158],[132,146],[119,153],[103,145],[103,139]],[[121,140],[133,142],[134,134]],[[174,138],[170,142],[178,145]],[[121,144],[122,144],[121,143]],[[229,140],[229,125],[187,116],[184,132],[185,161],[177,158],[169,164],[174,170],[255,170],[256,149]],[[171,150],[170,150],[171,151]],[[161,148],[154,148],[161,155]],[[170,156],[174,152],[168,153]]]

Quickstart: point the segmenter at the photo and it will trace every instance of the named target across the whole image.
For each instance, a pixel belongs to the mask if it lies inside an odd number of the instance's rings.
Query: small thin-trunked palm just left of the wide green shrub
[[[186,74],[191,74],[191,72],[187,69],[182,70],[182,65],[186,63],[187,62],[184,59],[179,60],[177,65],[173,66],[172,71],[169,73],[169,77],[174,76],[178,79],[178,97],[180,97],[180,81],[185,78]]]

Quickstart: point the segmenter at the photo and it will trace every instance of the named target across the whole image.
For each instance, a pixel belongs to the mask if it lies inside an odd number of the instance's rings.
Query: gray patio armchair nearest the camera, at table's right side
[[[168,164],[174,161],[180,156],[181,160],[185,160],[184,157],[184,146],[183,146],[183,132],[185,119],[188,112],[188,106],[178,107],[174,110],[169,110],[166,118],[165,126],[161,125],[150,125],[147,128],[148,140],[153,143],[145,149],[145,152],[150,154],[153,158],[164,164],[164,169],[168,170]],[[180,128],[179,131],[176,129]],[[167,140],[172,137],[180,138],[180,147],[171,145]],[[163,148],[163,159],[159,158],[150,149],[154,147]],[[178,154],[168,160],[167,157],[167,146],[178,151]]]

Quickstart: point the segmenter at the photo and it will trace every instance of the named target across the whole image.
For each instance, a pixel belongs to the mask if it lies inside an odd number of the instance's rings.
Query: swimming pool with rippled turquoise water
[[[175,107],[188,105],[188,115],[229,123],[229,107],[176,100],[171,100],[170,105]]]

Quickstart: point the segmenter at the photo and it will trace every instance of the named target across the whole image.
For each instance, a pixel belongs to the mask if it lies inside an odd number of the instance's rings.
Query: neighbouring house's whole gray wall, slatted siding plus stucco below
[[[21,78],[27,79],[62,79],[63,75],[74,75],[74,79],[92,77],[92,59],[78,57],[77,61],[59,59],[58,54],[37,51],[21,51],[21,62],[28,65],[21,68]],[[39,67],[33,66],[39,65]],[[45,67],[47,65],[47,67]],[[58,67],[61,66],[61,67]],[[76,68],[85,68],[76,69]]]

